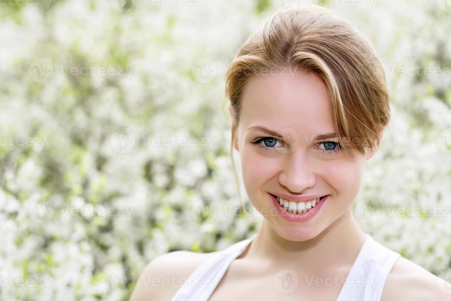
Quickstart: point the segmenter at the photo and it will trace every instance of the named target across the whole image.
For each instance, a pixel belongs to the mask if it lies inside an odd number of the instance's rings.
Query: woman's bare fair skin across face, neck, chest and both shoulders
[[[279,132],[282,139],[277,149],[252,144],[259,138],[273,137],[249,130],[253,126]],[[232,132],[235,129],[233,142],[240,154],[244,186],[264,218],[257,236],[230,264],[209,301],[336,300],[341,285],[308,285],[303,275],[343,280],[349,273],[365,239],[351,205],[360,189],[365,162],[377,148],[356,154],[354,159],[344,152],[322,153],[331,149],[325,141],[338,140],[312,140],[315,135],[334,132],[326,85],[314,73],[295,72],[294,78],[283,73],[253,76],[245,85],[240,121],[232,125]],[[382,133],[379,137],[382,139]],[[260,144],[265,145],[264,141]],[[268,214],[274,207],[268,192],[330,196],[309,221],[288,222]],[[141,274],[130,300],[170,300],[179,285],[152,286],[146,279],[187,278],[216,254],[177,251],[158,256]],[[300,275],[299,286],[290,294],[272,285],[277,275],[290,273],[285,269]],[[450,300],[451,295],[440,292],[437,283],[445,285],[417,264],[400,258],[387,277],[381,300]]]

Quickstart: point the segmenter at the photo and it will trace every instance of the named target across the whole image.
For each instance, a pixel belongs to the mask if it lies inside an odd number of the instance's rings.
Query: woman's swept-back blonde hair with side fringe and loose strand
[[[389,93],[371,42],[350,23],[319,6],[277,11],[244,42],[225,76],[232,123],[238,125],[245,83],[265,70],[313,71],[327,86],[342,150],[354,157],[379,145],[390,119]],[[232,133],[230,156],[238,184]],[[238,194],[241,200],[241,194]],[[243,202],[241,201],[243,208]],[[245,212],[245,211],[244,211]]]

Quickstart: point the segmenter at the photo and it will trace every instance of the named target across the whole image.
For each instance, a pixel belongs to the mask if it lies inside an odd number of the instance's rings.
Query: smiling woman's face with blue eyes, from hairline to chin
[[[244,87],[239,118],[234,146],[246,192],[281,237],[311,239],[350,210],[366,159],[346,155],[336,138],[315,139],[335,132],[327,87],[317,74],[253,76]],[[289,213],[277,195],[299,212],[309,207],[299,196],[328,196],[305,213]]]

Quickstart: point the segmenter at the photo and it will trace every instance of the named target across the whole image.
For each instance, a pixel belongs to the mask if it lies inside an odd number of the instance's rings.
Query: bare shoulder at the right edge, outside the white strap
[[[445,280],[401,256],[387,276],[381,301],[450,301],[449,286]]]

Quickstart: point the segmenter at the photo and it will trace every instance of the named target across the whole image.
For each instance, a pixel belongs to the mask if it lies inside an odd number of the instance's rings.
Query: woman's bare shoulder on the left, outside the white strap
[[[170,300],[180,285],[217,252],[169,252],[152,259],[136,280],[130,301]]]

